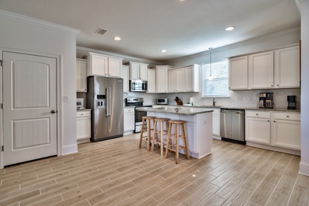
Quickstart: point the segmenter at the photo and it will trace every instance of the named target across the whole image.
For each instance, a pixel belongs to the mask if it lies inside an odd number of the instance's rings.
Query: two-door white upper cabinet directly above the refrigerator
[[[87,76],[121,77],[122,58],[89,52],[87,56]]]

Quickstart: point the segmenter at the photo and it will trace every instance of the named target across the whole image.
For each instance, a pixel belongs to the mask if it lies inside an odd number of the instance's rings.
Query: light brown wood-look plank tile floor
[[[138,148],[139,134],[0,170],[0,205],[306,205],[299,156],[213,140],[187,160]]]

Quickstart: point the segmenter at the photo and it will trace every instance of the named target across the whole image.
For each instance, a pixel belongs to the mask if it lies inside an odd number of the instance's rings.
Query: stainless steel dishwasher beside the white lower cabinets
[[[220,134],[222,140],[246,144],[244,139],[244,110],[220,110]]]

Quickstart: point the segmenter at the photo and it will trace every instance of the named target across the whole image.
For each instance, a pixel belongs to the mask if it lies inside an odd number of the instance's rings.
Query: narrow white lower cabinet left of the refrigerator
[[[76,135],[77,140],[90,139],[91,137],[91,111],[76,112]]]

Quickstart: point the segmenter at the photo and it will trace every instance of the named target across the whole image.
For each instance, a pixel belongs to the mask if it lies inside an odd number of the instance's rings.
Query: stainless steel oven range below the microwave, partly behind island
[[[146,111],[138,111],[136,108],[149,108],[152,107],[151,105],[143,105],[144,99],[143,98],[127,98],[125,100],[125,106],[134,106],[134,120],[135,120],[135,127],[134,133],[140,133],[142,130],[142,117],[147,116]]]

